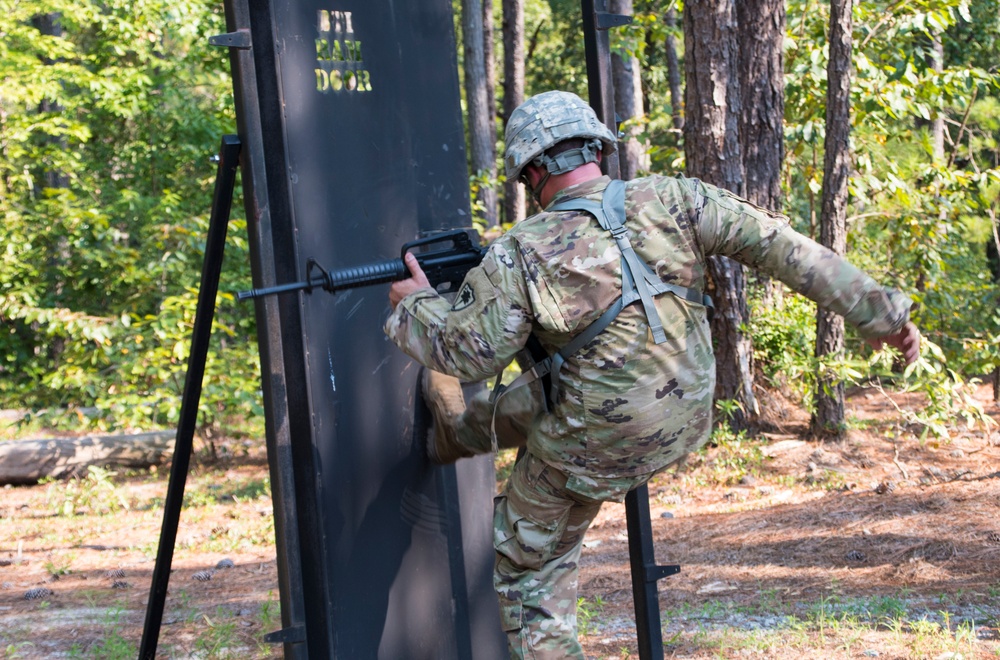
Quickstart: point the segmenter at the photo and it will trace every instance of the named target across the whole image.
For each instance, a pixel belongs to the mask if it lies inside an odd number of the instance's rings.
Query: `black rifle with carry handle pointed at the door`
[[[419,250],[419,251],[418,251]],[[410,271],[403,261],[407,252],[413,252],[417,262],[427,275],[427,281],[439,293],[450,293],[458,289],[466,273],[477,266],[486,254],[486,248],[472,242],[469,232],[464,229],[435,234],[403,245],[399,259],[389,259],[353,268],[326,270],[315,259],[306,262],[306,279],[303,282],[279,284],[266,289],[251,289],[236,294],[238,300],[260,298],[277,293],[305,291],[312,293],[315,287],[322,287],[330,293],[342,289],[354,289],[373,284],[397,282],[410,277]]]

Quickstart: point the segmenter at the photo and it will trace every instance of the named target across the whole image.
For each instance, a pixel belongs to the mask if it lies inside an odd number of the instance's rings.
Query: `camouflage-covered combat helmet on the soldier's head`
[[[583,138],[584,146],[552,157],[545,152],[571,138]],[[601,123],[583,99],[570,92],[544,92],[519,105],[510,114],[504,133],[507,149],[504,169],[514,181],[528,163],[563,174],[597,160],[615,150],[615,135]]]

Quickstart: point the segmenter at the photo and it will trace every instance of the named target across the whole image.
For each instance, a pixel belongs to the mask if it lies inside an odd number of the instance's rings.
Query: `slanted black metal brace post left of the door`
[[[205,260],[201,271],[201,289],[198,292],[198,307],[195,313],[194,329],[191,333],[191,354],[188,356],[188,370],[181,398],[180,421],[177,425],[177,440],[174,443],[170,481],[167,485],[167,497],[163,506],[160,546],[156,553],[153,584],[149,590],[146,622],[142,629],[142,642],[139,647],[141,660],[151,660],[156,655],[160,624],[163,621],[167,583],[170,581],[170,564],[174,556],[174,543],[177,540],[177,525],[181,516],[181,507],[184,504],[184,484],[187,481],[188,467],[191,463],[194,431],[198,421],[198,404],[201,401],[201,385],[205,377],[205,362],[208,358],[212,321],[215,317],[215,296],[219,292],[219,276],[222,273],[222,256],[226,247],[226,230],[229,225],[229,211],[233,203],[240,146],[239,137],[225,135],[222,137],[222,145],[219,148],[219,169],[215,175],[212,215],[205,242]]]

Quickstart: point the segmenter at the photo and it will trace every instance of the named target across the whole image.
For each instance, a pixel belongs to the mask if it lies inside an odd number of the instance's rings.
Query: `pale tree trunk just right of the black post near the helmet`
[[[612,0],[609,3],[612,14],[631,16],[632,0]],[[642,107],[642,80],[639,58],[635,55],[613,50],[611,52],[611,80],[615,89],[615,114],[624,123],[630,119],[641,120],[645,114]],[[626,128],[625,135],[618,142],[618,166],[621,178],[628,181],[649,170],[646,147],[639,141],[641,126],[633,123]]]

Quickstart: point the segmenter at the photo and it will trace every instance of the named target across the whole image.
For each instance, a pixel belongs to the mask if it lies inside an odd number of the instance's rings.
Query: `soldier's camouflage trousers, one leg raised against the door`
[[[500,399],[496,417],[486,392],[473,396],[457,420],[456,435],[476,453],[523,446],[536,415],[537,386]],[[493,584],[511,658],[583,659],[577,641],[578,561],[583,536],[601,501],[566,488],[566,474],[523,453],[503,493],[493,502]]]

